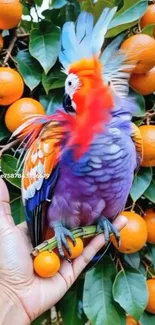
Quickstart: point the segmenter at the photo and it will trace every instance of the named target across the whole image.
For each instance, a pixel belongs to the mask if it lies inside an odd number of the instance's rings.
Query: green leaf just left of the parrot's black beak
[[[53,114],[55,111],[62,107],[62,96],[64,91],[51,91],[50,95],[41,95],[39,101],[44,106],[46,114]]]

